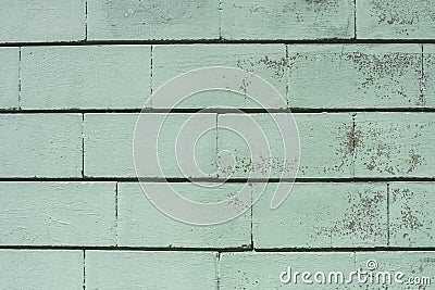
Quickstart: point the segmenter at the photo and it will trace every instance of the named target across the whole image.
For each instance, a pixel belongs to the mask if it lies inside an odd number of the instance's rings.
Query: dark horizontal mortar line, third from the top
[[[226,182],[226,184],[277,184],[277,182],[435,182],[435,177],[349,177],[349,178],[331,178],[331,177],[300,177],[300,178],[164,178],[164,177],[0,177],[0,182]]]

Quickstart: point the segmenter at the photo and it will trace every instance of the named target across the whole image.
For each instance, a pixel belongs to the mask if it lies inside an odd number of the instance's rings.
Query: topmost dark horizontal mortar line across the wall
[[[40,46],[140,46],[140,45],[347,45],[347,43],[435,43],[435,39],[173,39],[173,40],[80,40],[49,42],[3,42],[0,47],[40,47]]]

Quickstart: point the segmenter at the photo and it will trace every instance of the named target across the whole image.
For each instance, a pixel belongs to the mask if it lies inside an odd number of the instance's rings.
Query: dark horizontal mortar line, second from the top
[[[434,113],[435,108],[365,108],[365,109],[316,109],[316,108],[293,108],[293,109],[49,109],[49,110],[1,110],[0,114],[261,114],[261,113],[294,113],[294,114],[310,114],[310,113],[414,113],[427,112]]]

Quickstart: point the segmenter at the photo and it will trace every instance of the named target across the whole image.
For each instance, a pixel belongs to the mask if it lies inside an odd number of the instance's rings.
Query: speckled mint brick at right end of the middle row
[[[433,177],[434,114],[357,113],[356,177]]]

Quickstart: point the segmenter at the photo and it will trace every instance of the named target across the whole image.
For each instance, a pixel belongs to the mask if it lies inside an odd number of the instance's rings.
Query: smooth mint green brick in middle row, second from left
[[[92,177],[136,177],[133,140],[139,114],[85,114],[85,175]],[[196,147],[183,147],[183,136],[191,134],[203,126],[215,127],[215,114],[144,114],[145,126],[138,133],[137,163],[141,177],[202,177],[212,176],[215,165],[215,130],[212,129],[199,138]],[[189,117],[189,123],[184,124]],[[163,122],[164,121],[164,122]],[[160,124],[163,126],[160,128]],[[192,126],[192,127],[191,127]],[[178,137],[179,130],[184,128]],[[160,129],[160,131],[159,131]],[[144,131],[146,130],[146,131]],[[186,131],[187,130],[187,131]],[[157,137],[159,136],[159,137]],[[187,136],[190,137],[190,136]],[[194,136],[199,137],[199,136]],[[194,138],[192,137],[192,138]],[[159,140],[159,146],[156,141]],[[182,144],[176,152],[176,140]],[[190,139],[188,139],[190,140]],[[156,157],[158,150],[159,160]],[[192,167],[194,153],[199,169]],[[108,157],[109,156],[109,157]],[[185,161],[188,159],[188,161]],[[182,161],[183,160],[183,161]],[[159,163],[160,162],[160,165]],[[184,171],[182,172],[178,166]]]

